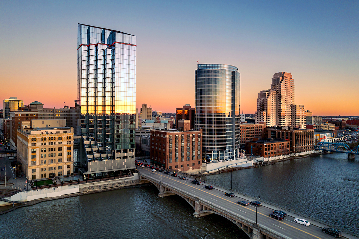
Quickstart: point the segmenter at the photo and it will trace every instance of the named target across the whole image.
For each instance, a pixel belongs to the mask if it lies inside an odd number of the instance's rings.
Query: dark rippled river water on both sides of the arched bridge
[[[234,171],[232,187],[356,233],[359,160],[348,161],[347,157],[324,154]],[[203,179],[230,188],[230,173]],[[0,215],[0,235],[1,238],[248,238],[221,216],[196,219],[192,207],[181,197],[160,198],[157,193],[154,186],[146,186],[22,207]]]

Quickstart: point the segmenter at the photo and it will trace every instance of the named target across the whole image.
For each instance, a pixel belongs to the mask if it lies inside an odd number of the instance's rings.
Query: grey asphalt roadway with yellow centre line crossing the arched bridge
[[[160,172],[158,171],[151,172],[149,168],[140,168],[140,167],[138,167],[138,171],[150,178],[153,178],[154,180],[160,181],[161,175]],[[162,173],[163,183],[168,184],[174,188],[178,188],[179,190],[185,191],[188,194],[193,195],[194,198],[199,197],[200,199],[209,201],[213,205],[222,207],[223,209],[231,211],[234,214],[237,214],[243,218],[256,222],[256,207],[251,204],[249,204],[248,206],[239,205],[237,201],[245,200],[241,198],[240,195],[235,195],[235,197],[228,197],[225,196],[225,191],[219,187],[214,187],[213,190],[208,190],[205,188],[205,185],[203,184],[195,185],[192,184],[191,181],[192,179],[189,178],[187,180],[180,180],[179,177],[173,177],[171,175],[165,175],[164,173]],[[291,238],[291,239],[334,238],[334,236],[323,233],[320,227],[315,226],[313,224],[311,224],[310,226],[304,226],[295,223],[293,221],[294,220],[293,216],[288,215],[284,218],[284,220],[281,221],[278,221],[274,218],[270,218],[269,213],[273,212],[273,209],[270,209],[269,207],[259,206],[257,210],[258,210],[257,223],[259,225],[264,226],[272,231],[275,231],[286,238]],[[344,236],[344,233],[343,233],[343,238],[346,238]]]

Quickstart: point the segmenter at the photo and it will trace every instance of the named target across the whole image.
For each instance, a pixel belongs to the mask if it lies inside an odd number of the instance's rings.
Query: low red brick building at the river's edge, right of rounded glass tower
[[[274,139],[265,138],[252,140],[246,142],[246,152],[251,153],[251,147],[253,150],[253,156],[260,157],[275,157],[290,153],[290,141],[289,139]]]

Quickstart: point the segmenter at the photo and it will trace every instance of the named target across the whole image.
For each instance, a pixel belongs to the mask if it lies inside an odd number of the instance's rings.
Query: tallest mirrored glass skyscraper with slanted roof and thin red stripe
[[[129,172],[135,149],[136,36],[78,24],[77,72],[81,171],[92,176]]]

